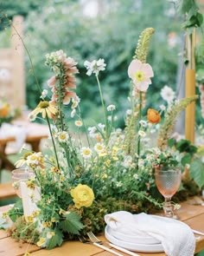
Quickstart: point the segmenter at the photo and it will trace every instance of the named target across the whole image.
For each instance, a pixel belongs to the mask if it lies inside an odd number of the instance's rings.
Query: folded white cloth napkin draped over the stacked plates
[[[146,213],[133,215],[120,211],[106,214],[105,222],[113,231],[135,236],[151,236],[160,240],[168,256],[194,255],[194,233],[182,221],[156,218]]]

